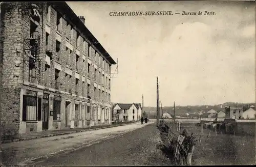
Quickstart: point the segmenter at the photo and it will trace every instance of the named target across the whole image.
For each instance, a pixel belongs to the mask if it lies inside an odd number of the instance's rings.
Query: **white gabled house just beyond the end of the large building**
[[[113,107],[113,120],[139,121],[141,118],[141,110],[140,103],[116,103]]]

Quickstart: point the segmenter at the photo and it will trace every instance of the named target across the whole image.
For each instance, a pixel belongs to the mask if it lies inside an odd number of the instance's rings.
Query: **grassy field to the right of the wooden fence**
[[[169,123],[168,125],[176,131],[174,124]],[[193,165],[255,164],[255,136],[246,135],[246,133],[243,133],[244,135],[218,133],[215,136],[215,132],[209,129],[203,129],[201,132],[201,127],[195,123],[181,123],[180,126],[181,132],[183,129],[187,129],[188,134],[193,132],[198,141],[202,135],[202,143],[197,143],[193,153]],[[252,124],[243,124],[241,127],[247,130],[252,128]],[[207,137],[209,132],[210,136]]]

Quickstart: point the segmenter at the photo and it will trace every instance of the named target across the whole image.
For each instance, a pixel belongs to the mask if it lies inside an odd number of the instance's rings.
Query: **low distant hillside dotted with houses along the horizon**
[[[207,112],[210,109],[214,109],[217,112],[222,110],[224,112],[225,111],[225,106],[230,106],[230,107],[242,107],[243,106],[244,109],[248,109],[250,105],[255,106],[255,103],[243,104],[243,103],[226,102],[224,104],[219,104],[219,105],[175,106],[175,113],[176,113],[176,115],[183,116],[186,113],[188,113],[188,114],[198,114],[200,111]],[[149,118],[156,118],[156,107],[146,107],[145,106],[144,108],[145,108],[145,112],[147,113]],[[162,109],[163,109],[163,113],[167,112],[170,115],[174,114],[173,106],[163,107]]]

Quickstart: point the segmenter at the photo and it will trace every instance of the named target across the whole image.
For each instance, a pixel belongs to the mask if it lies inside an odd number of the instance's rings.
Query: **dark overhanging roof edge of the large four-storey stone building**
[[[84,35],[87,39],[100,51],[100,54],[105,57],[111,64],[116,64],[116,62],[111,58],[110,54],[103,48],[99,41],[93,36],[93,34],[88,30],[86,25],[81,22],[80,18],[74,13],[74,11],[69,7],[66,2],[47,2],[50,5],[56,6],[55,9],[62,12],[63,15],[70,17],[72,23],[80,30],[81,36]]]

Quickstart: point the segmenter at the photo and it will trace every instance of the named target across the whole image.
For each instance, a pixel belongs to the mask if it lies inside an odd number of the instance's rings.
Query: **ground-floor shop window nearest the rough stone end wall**
[[[36,121],[37,118],[37,92],[34,95],[23,95],[23,121]]]

